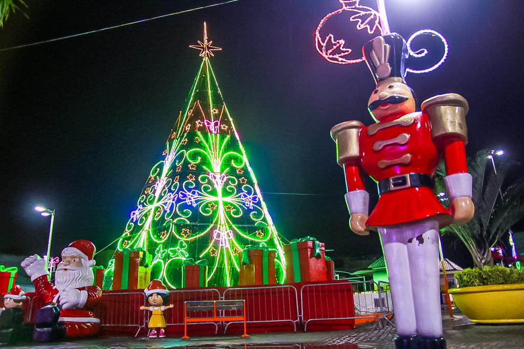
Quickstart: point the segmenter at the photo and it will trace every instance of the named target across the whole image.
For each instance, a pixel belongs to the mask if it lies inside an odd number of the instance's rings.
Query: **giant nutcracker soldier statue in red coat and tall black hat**
[[[472,177],[467,173],[466,100],[434,96],[416,111],[406,84],[406,41],[398,34],[367,42],[364,58],[376,88],[368,109],[376,123],[334,126],[338,162],[344,168],[350,226],[359,235],[378,231],[388,268],[397,348],[445,348],[439,298],[439,228],[473,217]],[[444,158],[451,200],[444,208],[433,193],[433,174]],[[362,170],[378,184],[380,198],[368,215]]]

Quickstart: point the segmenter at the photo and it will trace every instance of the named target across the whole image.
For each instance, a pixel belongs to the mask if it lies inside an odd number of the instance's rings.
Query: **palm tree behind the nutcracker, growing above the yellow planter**
[[[495,173],[490,166],[490,155],[493,156],[489,150],[480,150],[472,159],[468,159],[468,171],[473,176],[473,219],[464,225],[453,223],[442,229],[443,232],[451,232],[466,245],[479,268],[493,265],[491,248],[511,225],[524,218],[524,177],[510,184],[505,183],[508,173],[518,163],[501,159],[497,161]],[[435,192],[444,205],[449,206],[444,176],[444,165],[441,162],[435,173]]]

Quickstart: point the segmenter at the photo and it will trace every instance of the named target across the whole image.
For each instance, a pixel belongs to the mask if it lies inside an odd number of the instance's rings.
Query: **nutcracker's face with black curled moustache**
[[[400,78],[380,81],[368,101],[369,112],[377,122],[390,121],[415,111],[413,92]]]

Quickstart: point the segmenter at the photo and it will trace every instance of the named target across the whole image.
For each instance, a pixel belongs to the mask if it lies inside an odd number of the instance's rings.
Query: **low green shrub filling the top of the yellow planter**
[[[506,283],[524,283],[524,269],[500,266],[467,268],[455,273],[459,287],[505,285]]]

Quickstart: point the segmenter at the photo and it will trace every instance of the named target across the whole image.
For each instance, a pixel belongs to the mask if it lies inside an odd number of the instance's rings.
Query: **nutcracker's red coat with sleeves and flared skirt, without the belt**
[[[450,138],[435,144],[428,115],[414,112],[361,128],[360,159],[345,166],[348,191],[365,190],[359,177],[364,169],[376,182],[401,174],[433,177],[444,156],[446,174],[467,172],[464,142]],[[441,227],[452,217],[430,187],[409,187],[380,195],[369,215],[369,228],[397,225],[433,217]]]

